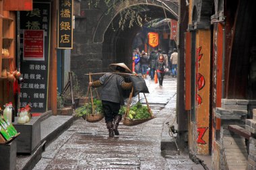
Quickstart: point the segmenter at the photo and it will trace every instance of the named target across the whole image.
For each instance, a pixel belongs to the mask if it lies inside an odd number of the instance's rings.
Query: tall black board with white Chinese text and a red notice
[[[33,3],[32,11],[20,12],[20,68],[24,78],[20,107],[30,104],[32,112],[47,109],[51,3]]]

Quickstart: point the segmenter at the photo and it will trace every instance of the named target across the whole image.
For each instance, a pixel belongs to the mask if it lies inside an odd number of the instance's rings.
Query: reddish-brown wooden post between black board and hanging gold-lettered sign
[[[49,83],[49,91],[51,96],[51,110],[53,111],[53,115],[57,115],[57,4],[59,0],[52,1],[51,7],[51,73],[50,73],[50,83]]]

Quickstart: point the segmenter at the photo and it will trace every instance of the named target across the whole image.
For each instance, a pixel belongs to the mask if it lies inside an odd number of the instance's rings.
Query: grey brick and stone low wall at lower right
[[[246,140],[243,136],[228,130],[228,125],[245,128],[248,105],[249,100],[222,99],[222,108],[216,108],[216,117],[221,119],[221,128],[220,136],[217,137],[219,140],[214,138],[214,142],[218,143],[219,152],[213,151],[212,157],[219,157],[220,163],[212,162],[213,169],[246,169],[248,157]],[[218,161],[218,159],[212,161]]]

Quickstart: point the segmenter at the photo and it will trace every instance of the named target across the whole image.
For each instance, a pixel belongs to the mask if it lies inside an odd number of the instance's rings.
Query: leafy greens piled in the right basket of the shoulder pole
[[[119,114],[124,114],[127,108],[122,106],[119,110]],[[127,118],[129,119],[147,119],[151,118],[150,112],[148,112],[148,108],[141,103],[136,103],[135,105],[131,106],[129,113],[127,114]]]

